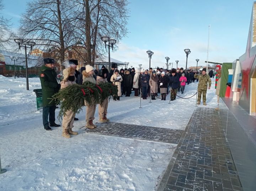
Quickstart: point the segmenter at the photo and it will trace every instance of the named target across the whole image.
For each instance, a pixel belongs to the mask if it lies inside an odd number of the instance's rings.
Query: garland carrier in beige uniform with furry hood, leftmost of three
[[[79,72],[80,73],[80,72]],[[60,88],[66,88],[73,84],[76,84],[75,69],[69,67],[63,70],[63,80],[60,82]],[[62,120],[62,136],[70,138],[70,135],[78,135],[77,132],[72,131],[74,124],[75,113],[72,110],[65,112]]]

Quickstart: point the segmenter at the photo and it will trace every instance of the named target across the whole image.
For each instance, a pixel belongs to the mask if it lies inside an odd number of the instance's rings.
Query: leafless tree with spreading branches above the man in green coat
[[[60,62],[65,60],[65,53],[74,48],[85,37],[77,32],[76,7],[69,0],[41,0],[27,3],[27,10],[22,14],[19,35],[34,39],[43,49]]]

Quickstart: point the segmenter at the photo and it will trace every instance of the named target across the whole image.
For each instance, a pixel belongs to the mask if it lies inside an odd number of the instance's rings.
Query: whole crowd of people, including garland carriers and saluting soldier
[[[119,101],[123,95],[129,97],[134,91],[134,97],[141,96],[143,99],[151,96],[155,100],[157,96],[161,96],[161,100],[166,100],[166,95],[170,93],[170,100],[176,99],[177,92],[181,94],[185,91],[185,86],[198,82],[198,99],[197,104],[201,103],[201,96],[203,95],[203,104],[206,105],[206,91],[210,89],[210,76],[206,74],[206,69],[196,72],[188,70],[187,72],[181,67],[180,70],[171,69],[165,70],[157,68],[156,71],[150,68],[149,70],[139,69],[121,69],[120,71],[112,65],[111,70],[108,71],[105,66],[98,70],[94,70],[91,65],[81,67],[80,72],[76,69],[78,65],[77,60],[69,60],[70,67],[63,70],[63,79],[60,83],[57,82],[57,73],[54,71],[55,61],[52,58],[43,59],[44,65],[39,72],[43,93],[43,125],[47,131],[52,130],[50,127],[59,127],[55,124],[55,102],[49,102],[51,98],[61,88],[71,86],[73,84],[82,84],[89,81],[95,84],[99,83],[113,83],[118,88],[118,94],[113,96],[114,101]],[[159,95],[158,95],[159,94]],[[96,104],[93,98],[91,103],[86,103],[86,125],[88,129],[94,129],[97,126],[93,124],[95,119]],[[100,122],[108,122],[107,119],[108,99],[104,100],[98,108],[98,116]],[[49,121],[48,121],[49,118]],[[63,116],[62,136],[70,138],[70,135],[78,135],[77,132],[72,131],[75,113],[72,110],[66,111]]]

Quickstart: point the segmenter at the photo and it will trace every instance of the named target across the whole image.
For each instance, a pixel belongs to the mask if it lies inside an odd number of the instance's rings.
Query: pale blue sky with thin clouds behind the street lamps
[[[17,28],[26,0],[3,0],[2,15]],[[154,52],[151,67],[165,67],[166,59],[186,66],[184,49],[189,48],[187,66],[233,62],[245,53],[253,0],[130,0],[128,34],[116,45],[111,58],[129,62],[129,67],[149,68],[147,50]],[[210,27],[209,27],[210,26]],[[170,66],[169,66],[170,68]]]

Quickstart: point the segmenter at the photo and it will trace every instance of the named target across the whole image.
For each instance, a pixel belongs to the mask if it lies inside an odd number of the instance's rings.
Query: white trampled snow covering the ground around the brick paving
[[[215,80],[215,78],[212,80]],[[214,83],[207,91],[207,106],[217,107]],[[41,88],[39,78],[0,76],[0,190],[154,190],[176,144],[85,133],[85,109],[76,117],[74,131],[66,139],[62,128],[45,131],[42,110],[36,109],[33,89]],[[197,83],[187,85],[181,97],[196,93]],[[108,118],[113,122],[184,130],[196,96],[170,102],[149,98],[121,97],[110,100]],[[221,102],[220,108],[226,108]],[[56,110],[56,116],[58,109]],[[95,122],[98,122],[96,110]],[[61,124],[56,120],[57,124]]]

